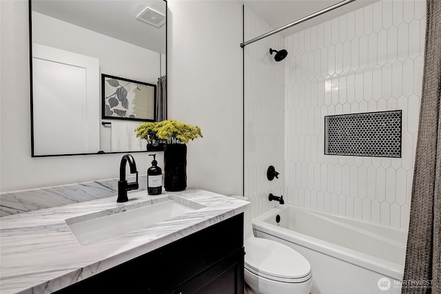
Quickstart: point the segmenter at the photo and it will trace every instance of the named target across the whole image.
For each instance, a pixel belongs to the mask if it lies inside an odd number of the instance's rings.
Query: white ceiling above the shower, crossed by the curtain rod
[[[342,0],[248,0],[242,1],[245,6],[254,11],[259,17],[266,21],[272,28],[277,29],[307,17],[309,14],[318,12],[319,10],[333,6],[334,4],[341,2]],[[375,1],[379,0],[356,0],[351,3],[341,6],[335,10],[326,12],[325,14],[315,17],[304,23],[299,23],[294,27],[288,28],[280,32],[283,36],[289,36],[300,30],[305,30],[311,26],[317,25],[339,17],[342,14],[357,10],[363,6],[367,6]],[[247,40],[246,40],[247,41]]]

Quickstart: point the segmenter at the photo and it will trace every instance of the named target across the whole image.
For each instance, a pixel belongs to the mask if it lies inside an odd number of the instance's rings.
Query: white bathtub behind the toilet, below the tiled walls
[[[286,244],[307,258],[312,294],[401,293],[405,230],[291,204],[271,209],[252,223],[256,237]]]

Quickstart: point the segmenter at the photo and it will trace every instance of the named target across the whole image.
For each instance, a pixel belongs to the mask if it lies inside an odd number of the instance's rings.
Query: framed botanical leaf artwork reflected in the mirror
[[[156,120],[156,85],[101,74],[103,119]]]

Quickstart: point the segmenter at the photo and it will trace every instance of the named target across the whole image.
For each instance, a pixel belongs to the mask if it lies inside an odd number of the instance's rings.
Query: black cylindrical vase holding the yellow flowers
[[[187,188],[187,145],[164,145],[164,189],[183,191]]]

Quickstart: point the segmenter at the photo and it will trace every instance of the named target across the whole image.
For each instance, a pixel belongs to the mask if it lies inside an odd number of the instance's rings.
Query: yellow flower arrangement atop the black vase
[[[136,137],[148,143],[187,144],[189,140],[203,138],[201,128],[187,125],[176,120],[163,120],[156,123],[144,123],[134,130]]]

